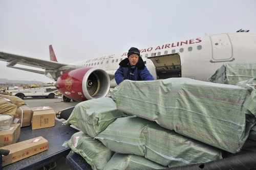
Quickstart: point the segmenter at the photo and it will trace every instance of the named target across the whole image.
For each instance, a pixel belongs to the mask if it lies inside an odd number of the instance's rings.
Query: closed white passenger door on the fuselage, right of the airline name
[[[212,60],[210,62],[233,61],[232,44],[227,34],[210,36],[212,45]]]

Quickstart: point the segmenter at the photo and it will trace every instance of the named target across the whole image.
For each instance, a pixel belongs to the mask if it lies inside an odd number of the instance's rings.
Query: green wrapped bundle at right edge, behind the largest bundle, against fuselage
[[[221,84],[232,84],[256,77],[255,63],[224,63],[209,81]]]

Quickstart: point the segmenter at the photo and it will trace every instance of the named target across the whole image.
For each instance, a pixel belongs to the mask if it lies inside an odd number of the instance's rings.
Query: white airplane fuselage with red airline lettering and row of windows
[[[201,81],[208,81],[215,71],[225,62],[255,63],[256,34],[226,33],[205,35],[184,41],[171,42],[140,49],[140,55],[146,61],[146,67],[157,79],[156,67],[147,57],[165,54],[180,54],[182,76]],[[127,52],[84,60],[73,65],[99,67],[108,74],[114,74],[119,62],[127,57]],[[116,86],[112,79],[111,86]]]

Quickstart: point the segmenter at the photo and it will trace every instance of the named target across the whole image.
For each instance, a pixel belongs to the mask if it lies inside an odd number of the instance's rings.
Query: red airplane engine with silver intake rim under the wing
[[[55,86],[67,98],[81,102],[106,96],[110,78],[100,68],[84,67],[65,72]]]

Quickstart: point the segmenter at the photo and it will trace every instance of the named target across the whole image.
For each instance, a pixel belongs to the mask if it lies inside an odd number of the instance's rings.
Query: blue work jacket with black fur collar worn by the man
[[[115,72],[115,80],[117,84],[120,84],[124,80],[154,80],[154,77],[146,68],[141,57],[139,57],[139,61],[135,66],[130,65],[128,58],[123,59],[119,65],[119,68]]]

